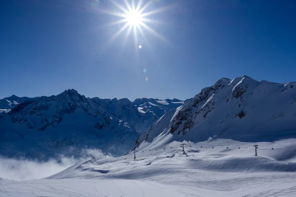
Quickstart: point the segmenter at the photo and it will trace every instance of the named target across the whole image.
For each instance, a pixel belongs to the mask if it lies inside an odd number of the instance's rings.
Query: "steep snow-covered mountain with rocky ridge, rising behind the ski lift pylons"
[[[257,81],[245,75],[233,80],[222,78],[177,110],[166,113],[141,134],[136,144],[211,138],[254,142],[296,137],[295,85],[296,82]]]

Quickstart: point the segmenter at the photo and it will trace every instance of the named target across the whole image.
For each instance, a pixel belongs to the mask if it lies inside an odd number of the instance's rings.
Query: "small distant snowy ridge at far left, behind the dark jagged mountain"
[[[12,95],[11,97],[7,97],[4,99],[0,99],[0,113],[7,113],[12,108],[16,107],[19,103],[24,102],[25,100],[34,100],[37,98],[29,98],[29,97],[17,97]]]

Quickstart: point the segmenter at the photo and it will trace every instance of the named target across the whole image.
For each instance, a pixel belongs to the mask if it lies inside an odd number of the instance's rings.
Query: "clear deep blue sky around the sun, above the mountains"
[[[153,0],[147,12],[163,7],[146,24],[167,42],[143,28],[136,49],[127,30],[104,45],[124,25],[107,26],[120,19],[100,11],[120,11],[110,0],[1,0],[0,98],[187,99],[222,77],[296,81],[295,0]]]

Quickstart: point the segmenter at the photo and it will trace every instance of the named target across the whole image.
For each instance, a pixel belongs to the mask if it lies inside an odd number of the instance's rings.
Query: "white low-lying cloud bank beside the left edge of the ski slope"
[[[60,155],[57,159],[49,159],[46,162],[0,157],[0,177],[17,181],[45,178],[92,157],[103,156],[100,150],[85,149],[82,152],[85,154],[80,158]]]

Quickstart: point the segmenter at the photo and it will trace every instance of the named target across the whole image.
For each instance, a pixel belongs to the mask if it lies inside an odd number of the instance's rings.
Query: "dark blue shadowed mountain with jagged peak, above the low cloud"
[[[34,99],[12,96],[1,103],[10,108],[0,114],[0,155],[9,157],[79,155],[87,148],[124,154],[157,120],[144,117],[129,99],[90,99],[75,90]]]

